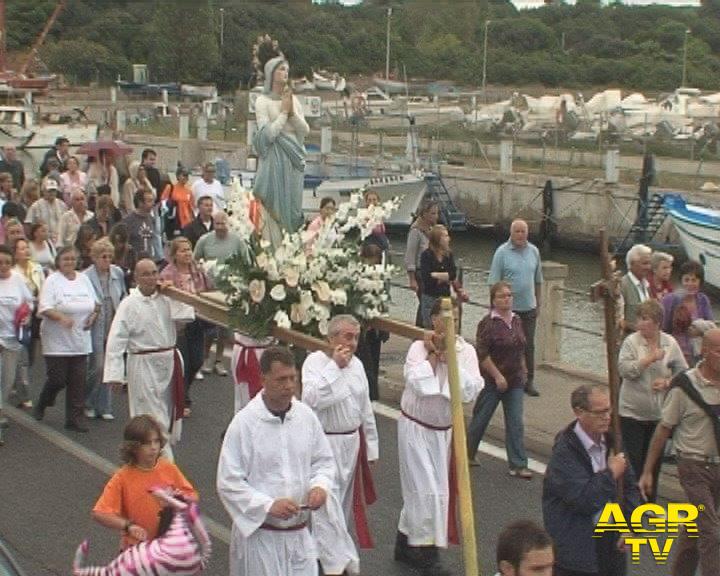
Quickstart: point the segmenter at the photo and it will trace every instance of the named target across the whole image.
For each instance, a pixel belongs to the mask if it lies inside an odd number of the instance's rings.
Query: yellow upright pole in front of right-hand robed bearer
[[[462,408],[460,390],[460,371],[455,348],[455,322],[450,298],[442,301],[443,321],[445,322],[445,358],[448,365],[450,383],[450,402],[453,415],[453,450],[458,479],[458,504],[460,507],[460,526],[462,528],[463,563],[465,576],[479,576],[480,565],[477,559],[475,540],[475,518],[473,515],[472,492],[470,490],[470,468],[468,467],[467,440],[465,438],[465,415]]]

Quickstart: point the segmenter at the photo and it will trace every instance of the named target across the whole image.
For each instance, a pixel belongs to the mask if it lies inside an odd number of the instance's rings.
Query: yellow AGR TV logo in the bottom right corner
[[[633,510],[630,523],[625,519],[619,504],[611,502],[605,505],[593,538],[600,538],[606,532],[631,534],[625,536],[625,544],[630,547],[632,563],[640,563],[640,550],[643,546],[650,549],[655,562],[663,565],[667,562],[670,550],[678,537],[679,527],[683,525],[685,532],[691,538],[698,537],[697,517],[705,507],[701,504],[668,504],[667,511],[658,504],[643,504]],[[648,536],[642,536],[647,534]],[[658,535],[666,534],[667,539],[660,546]]]

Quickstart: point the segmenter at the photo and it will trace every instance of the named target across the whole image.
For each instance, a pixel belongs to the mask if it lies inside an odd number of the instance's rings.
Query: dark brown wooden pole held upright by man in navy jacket
[[[620,374],[618,373],[617,357],[618,357],[618,334],[616,322],[616,304],[617,304],[617,279],[615,270],[611,265],[612,257],[608,249],[607,230],[600,230],[600,263],[602,266],[602,298],[603,308],[605,311],[605,347],[607,350],[608,365],[608,387],[610,388],[610,407],[612,408],[612,433],[613,433],[613,450],[615,454],[622,452],[622,434],[620,431],[620,414],[618,411],[620,399]],[[622,501],[622,479],[617,485],[618,499]]]

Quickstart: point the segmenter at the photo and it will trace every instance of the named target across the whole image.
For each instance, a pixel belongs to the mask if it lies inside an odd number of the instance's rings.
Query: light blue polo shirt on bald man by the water
[[[540,251],[528,242],[517,248],[508,240],[493,255],[488,284],[504,280],[510,282],[513,291],[513,310],[528,312],[537,308],[535,285],[542,284]]]

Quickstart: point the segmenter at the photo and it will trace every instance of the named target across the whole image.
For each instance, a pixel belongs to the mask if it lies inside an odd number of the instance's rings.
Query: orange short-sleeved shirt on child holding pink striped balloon
[[[160,504],[150,494],[155,487],[172,487],[183,495],[197,499],[197,492],[180,469],[160,458],[152,470],[125,465],[110,478],[93,512],[116,514],[145,529],[148,539],[157,536]],[[123,536],[123,548],[137,544],[134,538]]]

